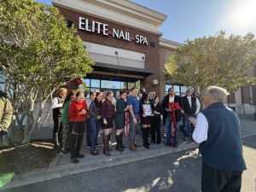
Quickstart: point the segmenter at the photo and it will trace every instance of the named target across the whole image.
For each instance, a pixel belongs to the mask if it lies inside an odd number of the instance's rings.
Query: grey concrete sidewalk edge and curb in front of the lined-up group
[[[138,148],[135,152],[125,154],[113,154],[110,157],[102,157],[95,160],[81,160],[79,164],[65,164],[61,166],[48,167],[34,170],[32,172],[20,173],[15,176],[11,183],[5,185],[0,191],[13,189],[24,185],[44,182],[50,179],[65,177],[80,172],[90,172],[110,166],[119,166],[126,163],[147,160],[165,154],[174,154],[184,150],[198,148],[197,143],[182,143],[178,148],[152,148],[150,150]],[[126,149],[129,150],[129,149]]]

